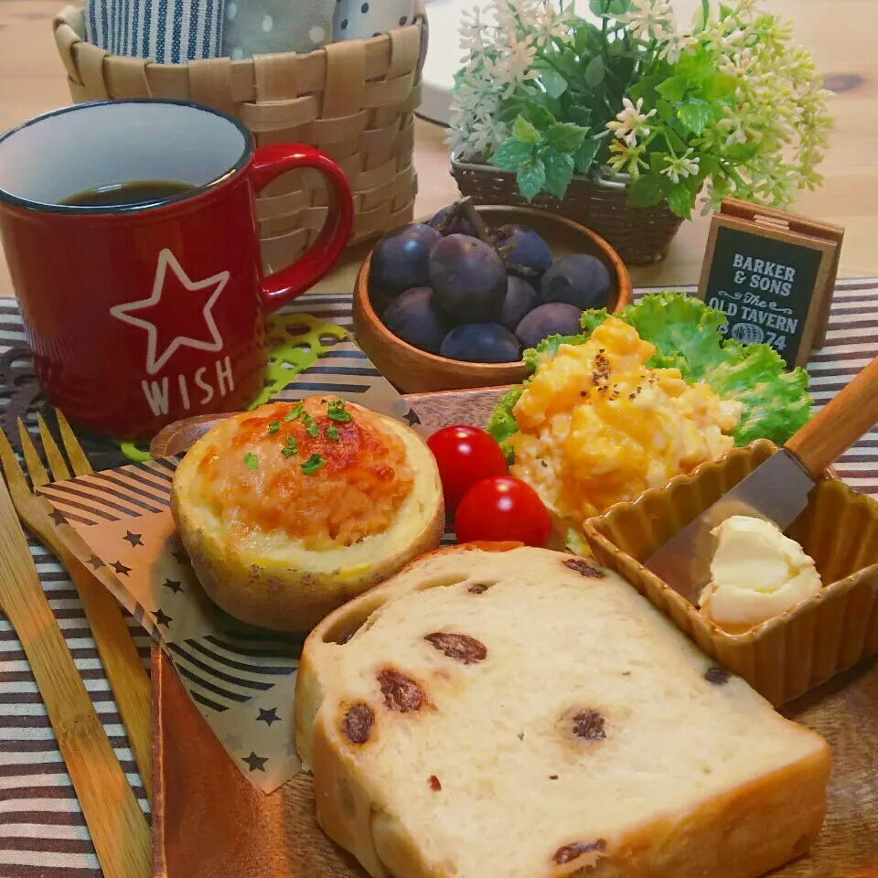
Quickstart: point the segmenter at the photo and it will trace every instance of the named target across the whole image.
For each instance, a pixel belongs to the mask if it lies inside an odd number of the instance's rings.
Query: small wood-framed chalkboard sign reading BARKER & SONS
[[[823,342],[842,235],[728,198],[713,217],[700,298],[723,311],[726,337],[765,342],[788,368],[804,365]]]

